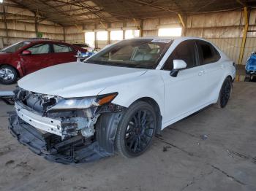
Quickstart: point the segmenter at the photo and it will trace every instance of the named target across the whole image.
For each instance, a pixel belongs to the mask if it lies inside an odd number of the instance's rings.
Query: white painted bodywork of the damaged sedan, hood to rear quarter
[[[233,61],[214,46],[221,56],[217,63],[184,69],[177,77],[170,77],[170,71],[161,70],[162,66],[177,45],[187,39],[200,38],[175,39],[156,69],[65,63],[29,74],[20,79],[18,85],[25,90],[63,98],[118,92],[112,102],[125,107],[140,98],[152,98],[159,105],[163,129],[216,103],[225,78],[236,76]]]

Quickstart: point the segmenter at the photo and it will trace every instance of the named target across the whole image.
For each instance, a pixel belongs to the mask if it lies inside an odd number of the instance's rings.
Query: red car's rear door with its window
[[[68,63],[76,61],[77,58],[75,55],[77,54],[76,50],[67,44],[61,43],[53,43],[53,61],[52,65],[56,65],[59,63]]]

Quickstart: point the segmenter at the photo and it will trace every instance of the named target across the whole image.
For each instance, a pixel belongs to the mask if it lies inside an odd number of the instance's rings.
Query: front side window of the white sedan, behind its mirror
[[[185,61],[187,63],[186,69],[195,67],[197,65],[197,53],[195,48],[194,40],[181,42],[176,49],[173,50],[169,58],[167,58],[162,69],[171,71],[173,69],[173,60]]]

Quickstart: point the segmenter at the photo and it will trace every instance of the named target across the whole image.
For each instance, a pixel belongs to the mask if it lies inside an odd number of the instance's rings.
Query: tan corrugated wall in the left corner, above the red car
[[[42,33],[42,38],[64,41],[64,28],[59,24],[45,20],[43,17],[29,11],[12,6],[0,5],[0,48],[23,40],[37,37],[37,32]],[[4,13],[5,12],[5,13]],[[37,29],[36,29],[37,28]]]

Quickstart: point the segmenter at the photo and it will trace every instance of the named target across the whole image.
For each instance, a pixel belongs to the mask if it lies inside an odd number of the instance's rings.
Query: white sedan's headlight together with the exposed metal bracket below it
[[[109,93],[86,98],[59,98],[56,104],[48,106],[46,115],[61,120],[62,136],[77,136],[79,132],[84,137],[95,133],[94,125],[105,108],[118,93]]]

